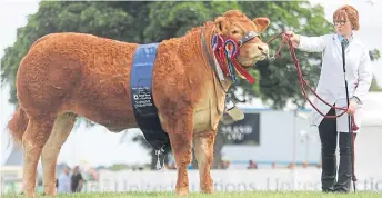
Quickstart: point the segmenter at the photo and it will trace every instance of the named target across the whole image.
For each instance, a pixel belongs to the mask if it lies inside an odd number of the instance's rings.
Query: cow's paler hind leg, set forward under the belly
[[[42,149],[41,162],[43,171],[43,192],[48,196],[56,195],[56,166],[61,146],[66,142],[76,121],[76,115],[67,112],[59,116],[53,126],[52,133]]]

